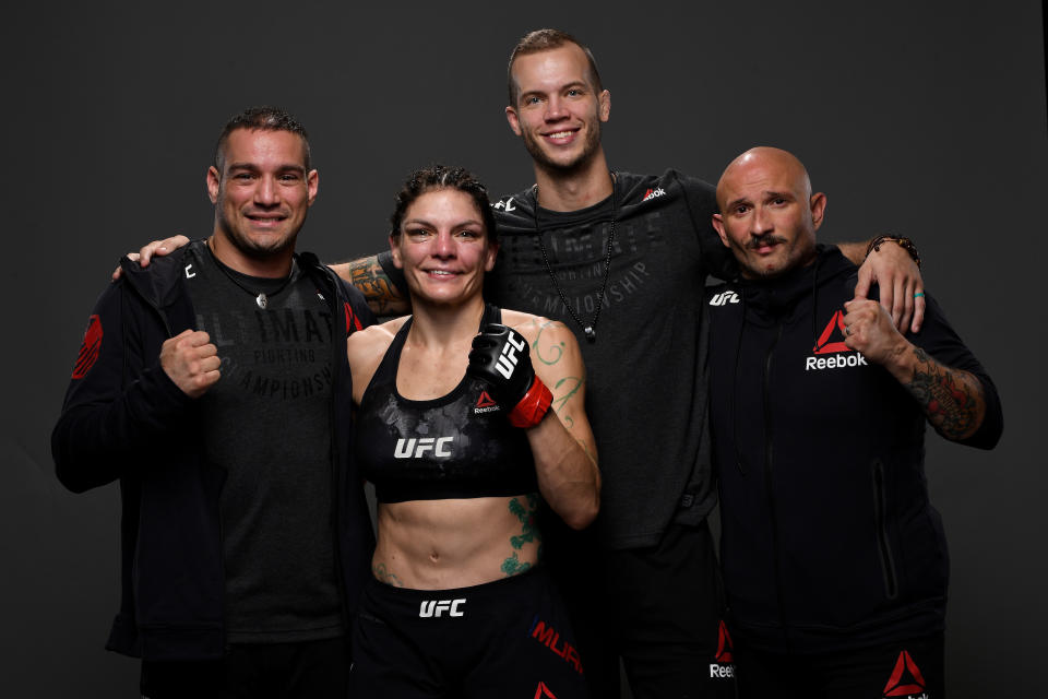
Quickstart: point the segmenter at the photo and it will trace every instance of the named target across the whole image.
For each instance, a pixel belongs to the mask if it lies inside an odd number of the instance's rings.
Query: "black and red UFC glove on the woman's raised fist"
[[[535,376],[527,341],[512,328],[489,323],[473,339],[471,376],[484,379],[500,403],[512,405],[510,425],[534,427],[543,420],[553,394]]]

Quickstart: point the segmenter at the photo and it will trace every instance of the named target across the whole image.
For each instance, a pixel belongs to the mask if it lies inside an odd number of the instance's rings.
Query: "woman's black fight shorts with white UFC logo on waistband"
[[[355,699],[577,699],[584,668],[541,568],[473,588],[371,580],[353,630]]]

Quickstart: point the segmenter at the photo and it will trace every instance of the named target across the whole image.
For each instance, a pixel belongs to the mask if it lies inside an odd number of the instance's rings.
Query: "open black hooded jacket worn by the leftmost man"
[[[51,435],[67,488],[82,493],[120,481],[122,592],[106,648],[145,660],[216,659],[225,644],[218,510],[225,474],[205,467],[199,412],[159,364],[164,341],[195,325],[186,249],[144,270],[121,261],[122,279],[92,311]],[[360,293],[315,256],[296,260],[331,307],[336,345],[373,321]],[[344,345],[333,356],[333,535],[348,615],[369,574],[374,536],[349,460],[353,391]]]

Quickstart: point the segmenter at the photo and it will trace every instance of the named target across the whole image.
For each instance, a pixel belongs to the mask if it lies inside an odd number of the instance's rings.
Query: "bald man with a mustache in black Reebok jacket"
[[[815,242],[826,196],[778,149],[733,161],[713,225],[739,277],[712,288],[722,566],[742,697],[943,696],[949,566],[925,424],[981,449],[989,376],[927,299],[900,334]]]

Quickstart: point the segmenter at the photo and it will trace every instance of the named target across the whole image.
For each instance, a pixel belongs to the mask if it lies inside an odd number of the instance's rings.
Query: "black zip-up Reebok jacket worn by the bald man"
[[[844,345],[857,270],[836,248],[771,281],[712,288],[710,386],[722,565],[737,640],[822,652],[943,627],[946,542],[928,499],[925,416],[885,369]],[[908,335],[974,374],[1000,437],[997,391],[927,299]]]

